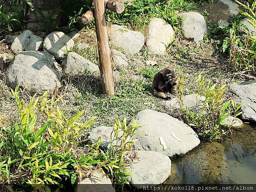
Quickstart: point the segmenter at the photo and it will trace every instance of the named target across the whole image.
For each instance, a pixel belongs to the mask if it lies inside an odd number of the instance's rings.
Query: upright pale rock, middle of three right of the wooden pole
[[[174,40],[172,26],[165,20],[154,18],[148,27],[148,49],[152,53],[165,54],[166,48]]]

